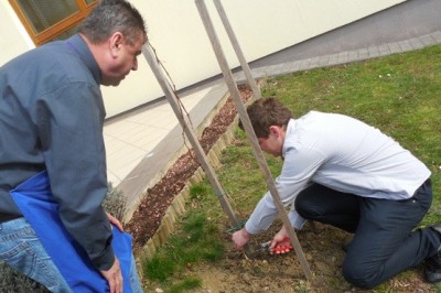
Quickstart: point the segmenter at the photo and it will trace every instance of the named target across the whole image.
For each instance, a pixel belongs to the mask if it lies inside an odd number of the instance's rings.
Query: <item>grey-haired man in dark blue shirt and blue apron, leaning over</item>
[[[53,292],[103,292],[103,282],[110,292],[126,292],[127,282],[141,292],[127,246],[130,278],[122,280],[118,229],[110,223],[122,227],[101,207],[106,113],[99,87],[118,86],[136,70],[146,42],[137,9],[103,0],[78,34],[0,67],[0,260]],[[77,275],[63,239],[90,272]],[[94,272],[103,280],[98,289],[88,280]]]

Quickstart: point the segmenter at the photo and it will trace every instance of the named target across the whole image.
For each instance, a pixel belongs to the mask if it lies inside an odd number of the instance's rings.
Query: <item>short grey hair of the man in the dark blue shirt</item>
[[[78,26],[93,44],[106,41],[115,32],[121,32],[129,44],[140,36],[147,41],[146,23],[139,11],[125,0],[100,0],[97,7]]]

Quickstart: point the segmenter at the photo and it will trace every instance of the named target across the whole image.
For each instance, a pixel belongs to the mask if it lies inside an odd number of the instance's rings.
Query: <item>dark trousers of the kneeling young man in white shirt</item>
[[[431,202],[430,180],[406,200],[359,197],[313,184],[298,195],[295,209],[305,219],[355,234],[343,275],[356,286],[370,289],[437,253],[438,232],[412,231]]]

